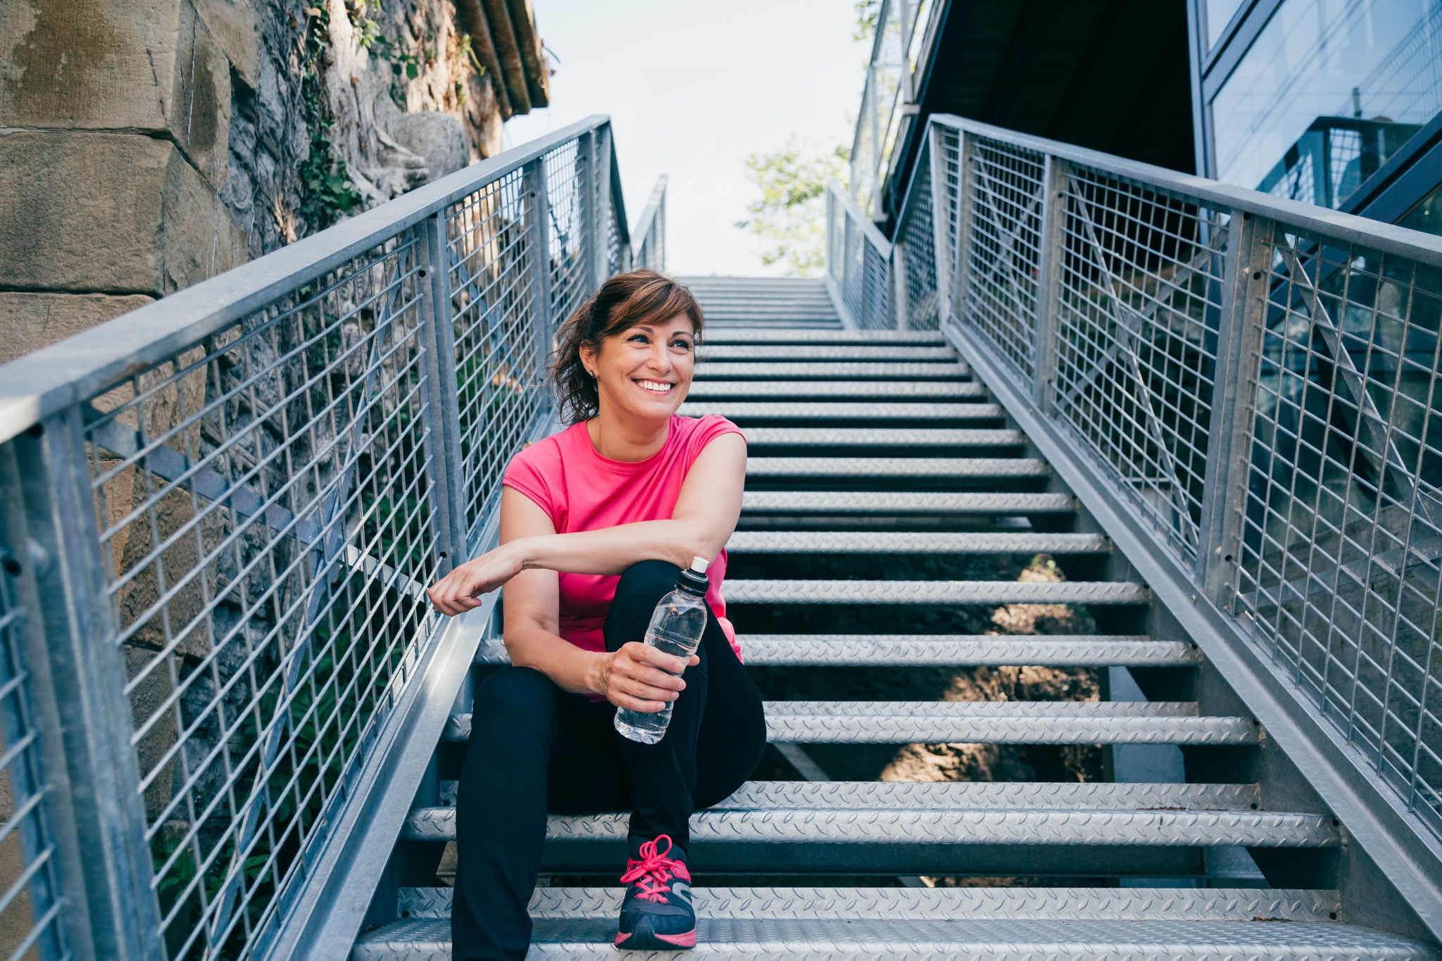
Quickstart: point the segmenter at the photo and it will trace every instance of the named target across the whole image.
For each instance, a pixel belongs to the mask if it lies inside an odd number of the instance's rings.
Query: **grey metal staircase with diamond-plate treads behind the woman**
[[[1291,762],[940,333],[844,330],[816,281],[684,280],[709,323],[682,412],[725,415],[750,444],[725,585],[748,666],[1089,667],[1110,694],[779,699],[766,705],[771,742],[1103,745],[1118,778],[820,781],[819,765],[789,749],[810,779],[747,784],[692,821],[696,954],[1435,957],[1426,942],[1345,924],[1366,895],[1355,882],[1340,889],[1345,828],[1296,787]],[[1066,579],[972,576],[1034,555],[1054,558]],[[947,576],[917,573],[927,571]],[[945,630],[946,611],[1004,604],[1076,605],[1096,633]],[[858,631],[858,618],[890,627]],[[500,663],[490,635],[474,670]],[[467,690],[356,961],[450,957],[450,889],[427,872],[454,839]],[[624,814],[552,817],[544,872],[614,873],[624,836]],[[776,886],[707,886],[737,875]],[[1009,883],[835,886],[846,875]],[[1099,877],[1118,886],[1058,886]],[[614,957],[619,899],[619,888],[539,889],[531,957]],[[386,918],[397,919],[375,924]]]

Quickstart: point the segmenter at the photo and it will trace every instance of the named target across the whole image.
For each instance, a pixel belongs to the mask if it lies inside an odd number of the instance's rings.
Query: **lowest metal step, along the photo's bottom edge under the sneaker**
[[[688,957],[792,961],[1436,961],[1435,947],[1338,922],[1132,921],[901,921],[705,918]],[[616,961],[614,918],[536,922],[528,961]],[[450,958],[450,921],[411,918],[356,939],[353,961]],[[672,961],[673,951],[627,952],[633,961]]]

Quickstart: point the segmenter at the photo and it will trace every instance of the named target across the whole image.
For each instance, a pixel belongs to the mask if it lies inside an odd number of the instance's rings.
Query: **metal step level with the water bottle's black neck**
[[[1145,604],[1123,581],[727,581],[730,604]]]

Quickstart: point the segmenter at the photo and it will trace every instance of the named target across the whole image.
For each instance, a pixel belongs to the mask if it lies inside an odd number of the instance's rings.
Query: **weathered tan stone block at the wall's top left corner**
[[[0,125],[164,134],[218,186],[229,62],[189,0],[7,0]]]

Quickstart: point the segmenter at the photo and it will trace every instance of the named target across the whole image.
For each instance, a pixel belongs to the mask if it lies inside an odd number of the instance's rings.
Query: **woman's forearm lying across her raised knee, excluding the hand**
[[[692,558],[711,560],[728,536],[730,526],[708,530],[694,520],[643,520],[601,530],[519,537],[506,547],[516,552],[522,569],[624,573],[639,560],[669,560],[678,568],[689,566]]]

